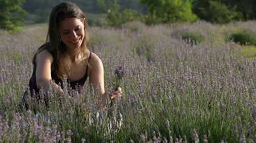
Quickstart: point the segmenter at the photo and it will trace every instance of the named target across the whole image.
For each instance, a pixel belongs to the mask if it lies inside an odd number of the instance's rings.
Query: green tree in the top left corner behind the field
[[[24,0],[0,0],[0,28],[10,33],[17,32],[23,25],[20,14],[26,14],[21,7]]]

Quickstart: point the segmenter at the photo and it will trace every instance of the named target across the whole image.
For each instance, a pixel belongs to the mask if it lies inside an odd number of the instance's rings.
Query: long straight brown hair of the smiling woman
[[[68,58],[67,51],[64,43],[60,41],[59,24],[61,21],[67,18],[77,18],[84,23],[85,36],[82,41],[80,53],[84,57],[84,61],[88,64],[88,24],[86,22],[85,14],[80,10],[78,6],[71,2],[62,2],[55,6],[49,17],[48,33],[46,37],[46,43],[39,47],[36,51],[33,64],[36,66],[36,55],[40,51],[47,49],[53,56],[53,63],[51,68],[55,71],[56,75],[63,79],[63,76],[68,76],[71,61]]]

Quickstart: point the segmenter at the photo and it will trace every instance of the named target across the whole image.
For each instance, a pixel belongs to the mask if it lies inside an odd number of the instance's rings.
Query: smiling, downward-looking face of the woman
[[[77,18],[68,18],[60,22],[60,38],[69,49],[77,49],[84,40],[84,23]]]

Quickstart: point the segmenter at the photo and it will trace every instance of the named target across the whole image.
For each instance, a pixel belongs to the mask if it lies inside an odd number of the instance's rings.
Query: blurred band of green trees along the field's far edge
[[[18,31],[26,23],[48,20],[51,9],[62,1],[0,0],[0,28]],[[105,23],[96,25],[118,27],[127,21],[140,20],[146,24],[194,22],[205,20],[225,24],[230,21],[256,19],[255,0],[71,0],[86,14],[105,14]]]

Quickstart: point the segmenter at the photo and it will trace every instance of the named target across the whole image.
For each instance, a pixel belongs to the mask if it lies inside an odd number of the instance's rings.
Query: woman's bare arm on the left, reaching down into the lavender
[[[36,86],[38,89],[49,90],[49,84],[52,84],[55,89],[63,93],[63,90],[52,81],[51,64],[53,57],[47,50],[43,50],[36,55]]]

